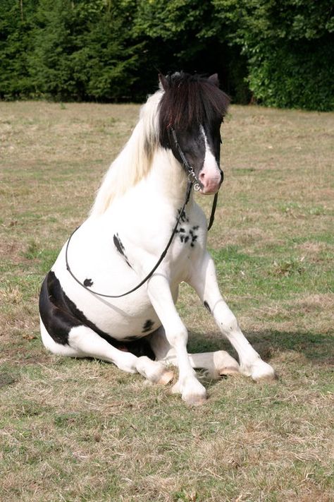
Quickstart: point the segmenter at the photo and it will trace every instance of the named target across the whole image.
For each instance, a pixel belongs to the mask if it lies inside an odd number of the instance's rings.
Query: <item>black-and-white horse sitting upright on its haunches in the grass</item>
[[[221,296],[206,250],[206,217],[192,190],[209,196],[221,188],[220,130],[228,104],[216,74],[159,76],[159,89],[142,106],[87,220],[44,279],[39,314],[49,351],[109,361],[164,385],[176,366],[171,390],[188,405],[207,398],[195,369],[210,378],[274,377]],[[197,292],[239,362],[222,350],[187,353],[187,328],[175,307],[181,282]]]

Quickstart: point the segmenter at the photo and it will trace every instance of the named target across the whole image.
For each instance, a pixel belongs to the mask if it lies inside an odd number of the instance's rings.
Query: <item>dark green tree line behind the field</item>
[[[234,102],[334,109],[331,0],[1,0],[0,99],[142,101],[216,73]]]

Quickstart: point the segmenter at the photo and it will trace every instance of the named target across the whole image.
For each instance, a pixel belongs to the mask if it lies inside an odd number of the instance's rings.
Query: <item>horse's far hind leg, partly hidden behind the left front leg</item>
[[[149,342],[157,361],[177,366],[175,349],[168,343],[162,326],[150,335]],[[194,369],[204,369],[210,378],[221,378],[221,376],[239,373],[239,364],[225,350],[189,354],[189,359]]]

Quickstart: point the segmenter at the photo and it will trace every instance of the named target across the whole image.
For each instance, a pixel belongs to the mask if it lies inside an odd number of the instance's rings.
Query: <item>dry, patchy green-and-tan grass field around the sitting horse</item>
[[[223,126],[209,248],[276,381],[204,379],[209,400],[192,409],[111,364],[44,351],[42,277],[137,112],[0,102],[0,500],[334,501],[334,114],[235,106]],[[233,354],[189,287],[178,308],[190,349]]]

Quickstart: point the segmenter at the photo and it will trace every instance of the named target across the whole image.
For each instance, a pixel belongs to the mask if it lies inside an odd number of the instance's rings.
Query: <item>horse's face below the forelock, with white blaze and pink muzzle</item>
[[[183,131],[175,130],[180,148],[201,184],[199,192],[204,195],[218,192],[223,182],[223,172],[219,165],[220,126],[221,119],[217,118],[212,124],[203,124]],[[175,148],[172,150],[180,160]]]

